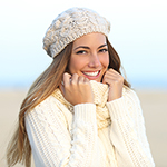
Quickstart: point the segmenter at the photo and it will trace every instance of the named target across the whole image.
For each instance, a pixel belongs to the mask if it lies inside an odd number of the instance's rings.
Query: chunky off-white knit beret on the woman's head
[[[109,31],[110,23],[97,12],[87,8],[71,8],[52,21],[43,38],[43,49],[55,58],[67,45],[84,35],[101,32],[108,36]]]

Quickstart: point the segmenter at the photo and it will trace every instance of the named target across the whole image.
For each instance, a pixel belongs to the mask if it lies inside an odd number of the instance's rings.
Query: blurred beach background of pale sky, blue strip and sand
[[[42,38],[71,7],[87,7],[111,23],[109,40],[137,91],[157,167],[167,166],[167,3],[165,0],[0,1],[0,166],[32,81],[50,65]],[[18,165],[19,167],[19,165]]]

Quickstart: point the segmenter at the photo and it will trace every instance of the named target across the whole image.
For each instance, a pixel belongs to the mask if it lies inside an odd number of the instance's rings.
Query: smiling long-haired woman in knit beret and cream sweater
[[[8,164],[153,167],[139,100],[120,73],[109,22],[92,10],[59,14],[43,38],[53,58],[31,86]]]

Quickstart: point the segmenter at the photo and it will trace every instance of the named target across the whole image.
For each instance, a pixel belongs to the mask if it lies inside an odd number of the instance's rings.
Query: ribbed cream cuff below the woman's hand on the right
[[[129,115],[124,97],[116,99],[114,101],[107,102],[106,105],[109,109],[111,119],[121,119]]]

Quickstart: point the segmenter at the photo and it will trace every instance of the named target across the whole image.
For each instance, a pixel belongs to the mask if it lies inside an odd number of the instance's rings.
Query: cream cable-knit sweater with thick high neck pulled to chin
[[[26,114],[36,167],[154,167],[135,91],[107,102],[108,86],[90,84],[94,104],[71,106],[57,89]]]

